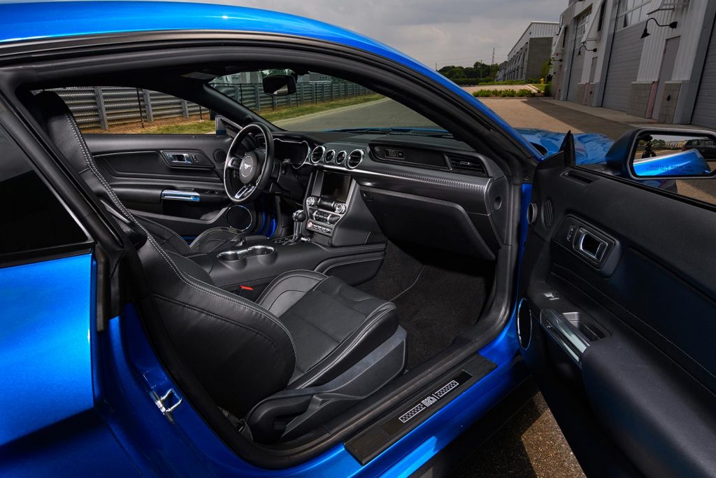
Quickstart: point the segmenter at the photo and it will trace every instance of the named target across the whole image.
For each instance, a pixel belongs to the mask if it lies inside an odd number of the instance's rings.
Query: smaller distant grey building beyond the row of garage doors
[[[528,80],[541,77],[543,64],[552,51],[552,39],[559,29],[553,21],[533,21],[500,65],[498,80]]]

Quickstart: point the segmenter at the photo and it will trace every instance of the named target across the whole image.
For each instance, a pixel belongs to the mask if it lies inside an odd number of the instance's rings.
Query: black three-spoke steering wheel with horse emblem
[[[241,143],[251,132],[261,133],[266,148],[241,153]],[[233,138],[224,164],[224,189],[231,201],[246,204],[266,190],[274,170],[274,136],[266,125],[249,123]]]

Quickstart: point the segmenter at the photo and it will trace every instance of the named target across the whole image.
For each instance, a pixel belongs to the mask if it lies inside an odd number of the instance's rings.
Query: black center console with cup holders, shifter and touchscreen
[[[292,215],[294,234],[280,239],[248,236],[241,247],[193,255],[218,287],[255,300],[277,276],[308,269],[337,276],[349,285],[377,274],[386,238],[351,176],[314,171],[305,210]]]

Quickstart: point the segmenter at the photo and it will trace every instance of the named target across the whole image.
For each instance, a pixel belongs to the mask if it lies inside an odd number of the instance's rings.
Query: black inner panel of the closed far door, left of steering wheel
[[[230,224],[223,188],[228,135],[86,135],[97,165],[133,211],[185,237]],[[256,217],[253,206],[245,206]],[[256,224],[253,224],[254,226]]]

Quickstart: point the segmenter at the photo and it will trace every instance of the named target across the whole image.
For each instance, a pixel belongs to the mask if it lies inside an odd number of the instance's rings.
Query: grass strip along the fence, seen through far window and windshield
[[[277,110],[263,110],[257,112],[266,120],[274,123],[279,120],[290,120],[292,118],[298,118],[299,116],[312,115],[314,113],[321,113],[324,111],[335,110],[336,108],[362,105],[363,103],[376,101],[382,99],[382,95],[365,95],[346,98],[344,100],[334,100],[319,102],[311,105],[301,105],[294,107],[282,107]],[[142,134],[155,134],[155,135],[203,135],[206,133],[213,133],[216,130],[216,125],[213,120],[180,120],[175,123],[158,125],[158,126],[147,126],[146,128],[132,128],[123,129],[122,131],[117,130],[117,133],[142,133]],[[110,130],[110,133],[114,131]]]

